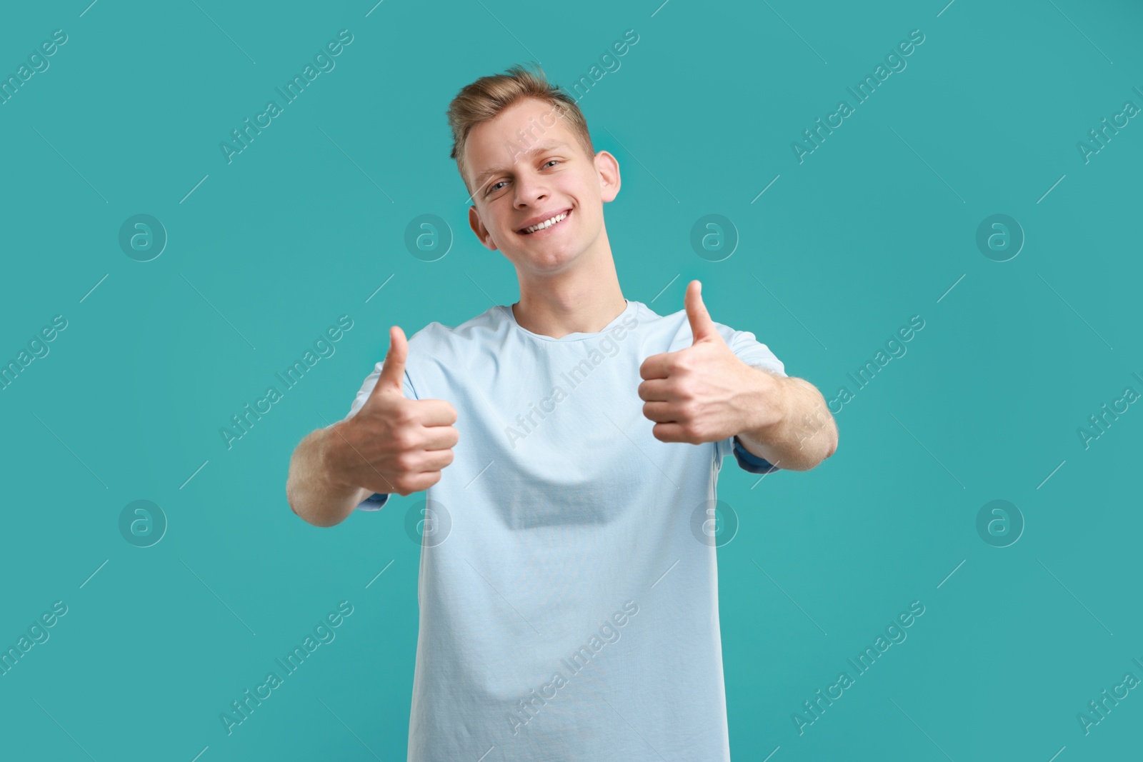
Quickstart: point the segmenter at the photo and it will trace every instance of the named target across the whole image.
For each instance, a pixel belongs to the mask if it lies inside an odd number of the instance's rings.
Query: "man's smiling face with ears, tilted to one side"
[[[474,127],[465,149],[475,190],[469,223],[518,270],[559,272],[606,243],[604,203],[620,191],[618,163],[606,151],[589,157],[553,106],[515,103]],[[560,216],[546,230],[526,230]]]

